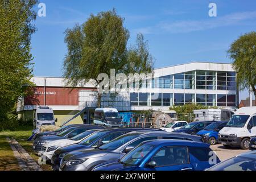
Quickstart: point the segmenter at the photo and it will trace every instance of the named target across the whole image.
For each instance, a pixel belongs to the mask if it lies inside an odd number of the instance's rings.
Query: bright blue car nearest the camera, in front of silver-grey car
[[[202,171],[220,163],[209,146],[187,140],[149,140],[119,162],[100,164],[93,171]]]

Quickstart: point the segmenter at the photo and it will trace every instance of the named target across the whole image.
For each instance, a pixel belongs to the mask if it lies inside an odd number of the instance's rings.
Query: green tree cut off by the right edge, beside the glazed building
[[[240,90],[252,89],[256,98],[256,32],[249,32],[235,40],[229,50],[233,68],[237,71]]]

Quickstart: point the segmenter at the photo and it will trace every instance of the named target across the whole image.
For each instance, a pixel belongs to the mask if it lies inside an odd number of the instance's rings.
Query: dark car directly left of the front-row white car
[[[86,130],[92,130],[97,128],[101,129],[102,127],[95,126],[95,125],[82,125],[82,126],[69,127],[68,129],[61,131],[61,133],[55,136],[41,137],[39,139],[34,140],[33,150],[36,155],[40,155],[39,152],[41,151],[41,148],[44,143],[47,143],[53,140],[58,140],[58,139],[72,138],[80,133],[85,132]]]

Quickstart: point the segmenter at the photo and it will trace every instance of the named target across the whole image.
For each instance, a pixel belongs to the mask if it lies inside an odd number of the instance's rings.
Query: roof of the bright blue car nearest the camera
[[[177,140],[177,139],[158,139],[158,140],[147,140],[143,142],[145,144],[150,144],[153,146],[196,146],[196,147],[209,147],[208,143],[194,142],[189,140]]]

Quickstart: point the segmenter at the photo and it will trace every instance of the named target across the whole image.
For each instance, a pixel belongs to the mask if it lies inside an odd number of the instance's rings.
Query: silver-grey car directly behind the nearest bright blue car
[[[180,139],[201,142],[201,137],[164,131],[134,131],[122,135],[98,148],[69,152],[60,164],[61,171],[90,171],[98,164],[118,161],[138,144],[146,140]]]

